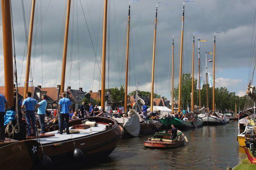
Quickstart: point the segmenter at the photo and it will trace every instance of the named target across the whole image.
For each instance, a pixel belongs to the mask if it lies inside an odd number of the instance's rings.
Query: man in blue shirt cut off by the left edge
[[[6,98],[0,94],[0,140],[5,140],[5,130],[4,130],[4,115],[8,108],[8,102]]]

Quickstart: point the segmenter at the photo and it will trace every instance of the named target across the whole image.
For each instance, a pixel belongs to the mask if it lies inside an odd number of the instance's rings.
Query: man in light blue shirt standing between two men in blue
[[[45,116],[46,116],[46,107],[47,107],[47,102],[46,102],[46,95],[42,95],[42,101],[37,104],[38,107],[38,118],[39,118],[39,123],[41,127],[41,133],[45,133]]]

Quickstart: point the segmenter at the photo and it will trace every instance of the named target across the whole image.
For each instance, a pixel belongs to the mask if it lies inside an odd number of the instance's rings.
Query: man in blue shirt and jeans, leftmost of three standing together
[[[28,124],[28,136],[31,136],[31,125],[30,120],[32,121],[32,127],[34,134],[32,136],[35,136],[36,134],[36,127],[35,127],[35,107],[37,106],[36,99],[31,98],[32,94],[31,92],[28,92],[26,94],[26,99],[23,100],[21,109],[24,111],[24,107],[26,107],[26,122]]]

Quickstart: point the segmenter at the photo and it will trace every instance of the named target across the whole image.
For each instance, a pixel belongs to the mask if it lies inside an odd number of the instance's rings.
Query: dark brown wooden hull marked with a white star
[[[38,149],[36,140],[18,141],[0,147],[0,169],[29,170],[37,158]]]

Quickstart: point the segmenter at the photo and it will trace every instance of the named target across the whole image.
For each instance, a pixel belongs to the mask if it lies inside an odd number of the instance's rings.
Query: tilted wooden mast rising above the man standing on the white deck
[[[70,16],[71,0],[68,0],[67,3],[68,4],[67,4],[65,37],[64,37],[64,47],[63,47],[63,62],[62,62],[62,74],[61,74],[60,93],[63,93],[64,92],[64,88],[65,88],[65,73],[66,73],[66,61],[67,61],[67,50],[68,50],[68,27],[69,27],[69,16]]]

